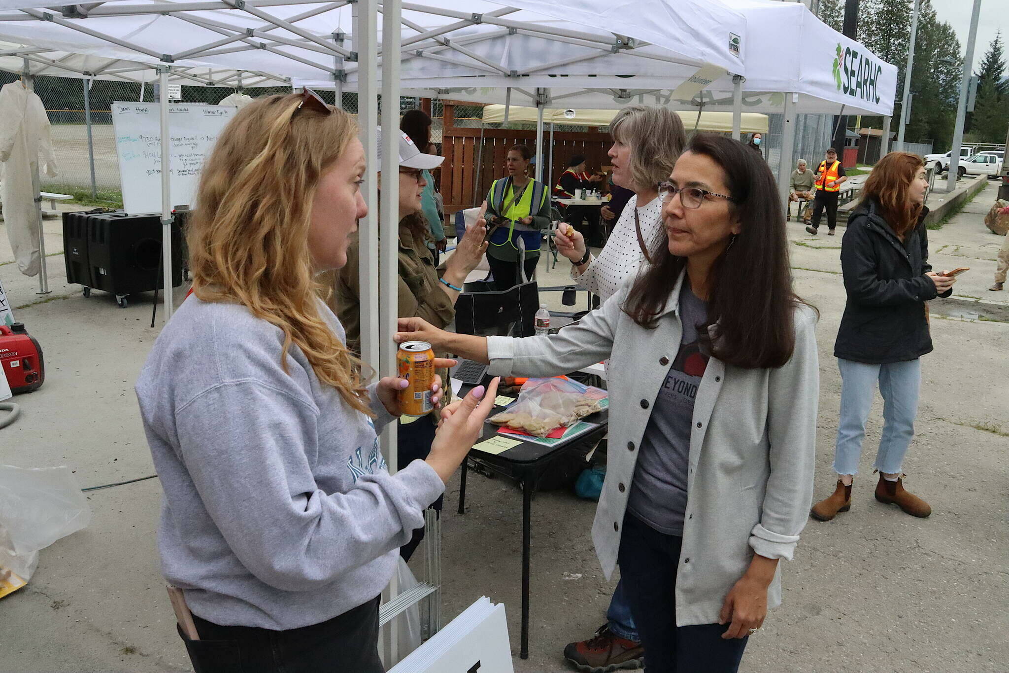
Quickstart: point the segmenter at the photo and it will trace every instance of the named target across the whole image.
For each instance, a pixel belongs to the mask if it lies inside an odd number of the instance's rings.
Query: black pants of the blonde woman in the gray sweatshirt
[[[196,673],[383,673],[378,658],[379,598],[328,622],[290,631],[222,627],[194,614],[200,640],[183,636],[183,641]]]

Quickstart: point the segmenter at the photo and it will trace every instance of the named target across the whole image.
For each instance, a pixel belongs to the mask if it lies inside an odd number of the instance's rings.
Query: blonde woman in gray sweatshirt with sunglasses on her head
[[[491,409],[495,383],[443,412],[425,460],[386,471],[376,432],[406,381],[366,384],[317,297],[367,213],[364,170],[352,118],[305,90],[240,110],[203,172],[195,294],[136,383],[164,490],[162,572],[193,613],[197,671],[382,671],[398,550]]]

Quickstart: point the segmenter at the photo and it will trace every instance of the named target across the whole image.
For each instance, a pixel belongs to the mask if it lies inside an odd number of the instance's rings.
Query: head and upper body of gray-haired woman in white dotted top
[[[663,232],[657,186],[672,173],[686,144],[683,122],[668,108],[629,105],[616,113],[609,129],[613,184],[635,195],[598,256],[573,229],[559,229],[554,236],[558,251],[571,261],[571,277],[603,302],[637,273],[642,261],[650,261],[649,250]]]

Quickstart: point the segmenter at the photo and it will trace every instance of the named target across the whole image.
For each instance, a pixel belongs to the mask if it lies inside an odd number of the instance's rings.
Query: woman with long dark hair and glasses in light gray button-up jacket
[[[815,311],[792,290],[774,177],[740,142],[698,134],[658,186],[654,263],[580,323],[525,339],[400,321],[506,375],[609,358],[609,457],[592,529],[621,566],[650,673],[738,670],[781,602],[812,499]]]

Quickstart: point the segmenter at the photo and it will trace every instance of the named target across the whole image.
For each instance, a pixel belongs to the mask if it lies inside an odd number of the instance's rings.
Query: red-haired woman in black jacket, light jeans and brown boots
[[[820,521],[852,507],[852,479],[877,381],[884,424],[876,454],[876,499],[915,517],[932,513],[927,502],[904,490],[901,481],[918,408],[918,358],[932,350],[925,302],[948,297],[957,282],[928,264],[927,188],[920,157],[890,152],[866,181],[862,203],[852,213],[842,241],[848,303],[833,353],[843,379],[833,461],[837,485],[812,508],[813,518]]]

